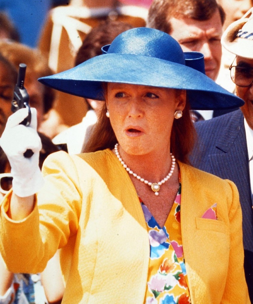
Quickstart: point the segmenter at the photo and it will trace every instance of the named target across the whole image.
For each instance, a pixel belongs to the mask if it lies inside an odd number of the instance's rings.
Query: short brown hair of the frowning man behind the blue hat
[[[216,0],[153,0],[148,11],[147,26],[169,34],[170,18],[186,16],[195,20],[209,20],[216,9],[223,25],[225,12]]]

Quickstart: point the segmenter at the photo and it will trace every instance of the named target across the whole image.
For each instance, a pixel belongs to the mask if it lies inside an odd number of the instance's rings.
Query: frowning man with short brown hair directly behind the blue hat
[[[184,52],[202,53],[205,74],[215,81],[224,19],[224,11],[216,0],[154,0],[148,11],[147,27],[171,35]]]

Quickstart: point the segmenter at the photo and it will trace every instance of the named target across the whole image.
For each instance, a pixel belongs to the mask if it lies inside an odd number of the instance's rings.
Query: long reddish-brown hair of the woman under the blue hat
[[[95,152],[107,148],[113,149],[117,143],[110,119],[106,117],[105,113],[106,105],[101,110],[98,122],[95,124],[91,137],[85,143],[82,152]],[[188,155],[193,149],[195,138],[196,131],[191,121],[190,103],[187,101],[183,110],[183,116],[180,119],[174,119],[171,131],[171,152],[177,160],[189,164]]]

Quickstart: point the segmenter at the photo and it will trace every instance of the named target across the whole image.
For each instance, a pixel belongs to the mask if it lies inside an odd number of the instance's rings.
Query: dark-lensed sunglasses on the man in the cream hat
[[[229,67],[230,77],[236,85],[239,87],[248,87],[253,82],[253,67],[248,65],[233,65]]]

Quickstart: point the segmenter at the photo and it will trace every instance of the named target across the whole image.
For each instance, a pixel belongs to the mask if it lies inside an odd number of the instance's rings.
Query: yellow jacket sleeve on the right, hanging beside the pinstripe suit
[[[231,187],[231,195],[228,197],[230,255],[226,286],[221,303],[245,304],[250,303],[250,300],[243,267],[242,212],[238,190],[232,181],[227,181]]]

